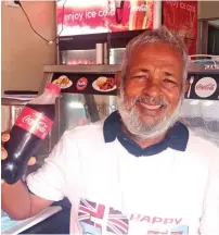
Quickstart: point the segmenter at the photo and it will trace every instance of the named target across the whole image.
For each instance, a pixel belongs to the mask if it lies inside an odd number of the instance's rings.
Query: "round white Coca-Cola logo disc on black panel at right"
[[[212,77],[203,77],[195,85],[195,92],[198,97],[206,98],[212,96],[217,89],[217,83]]]

